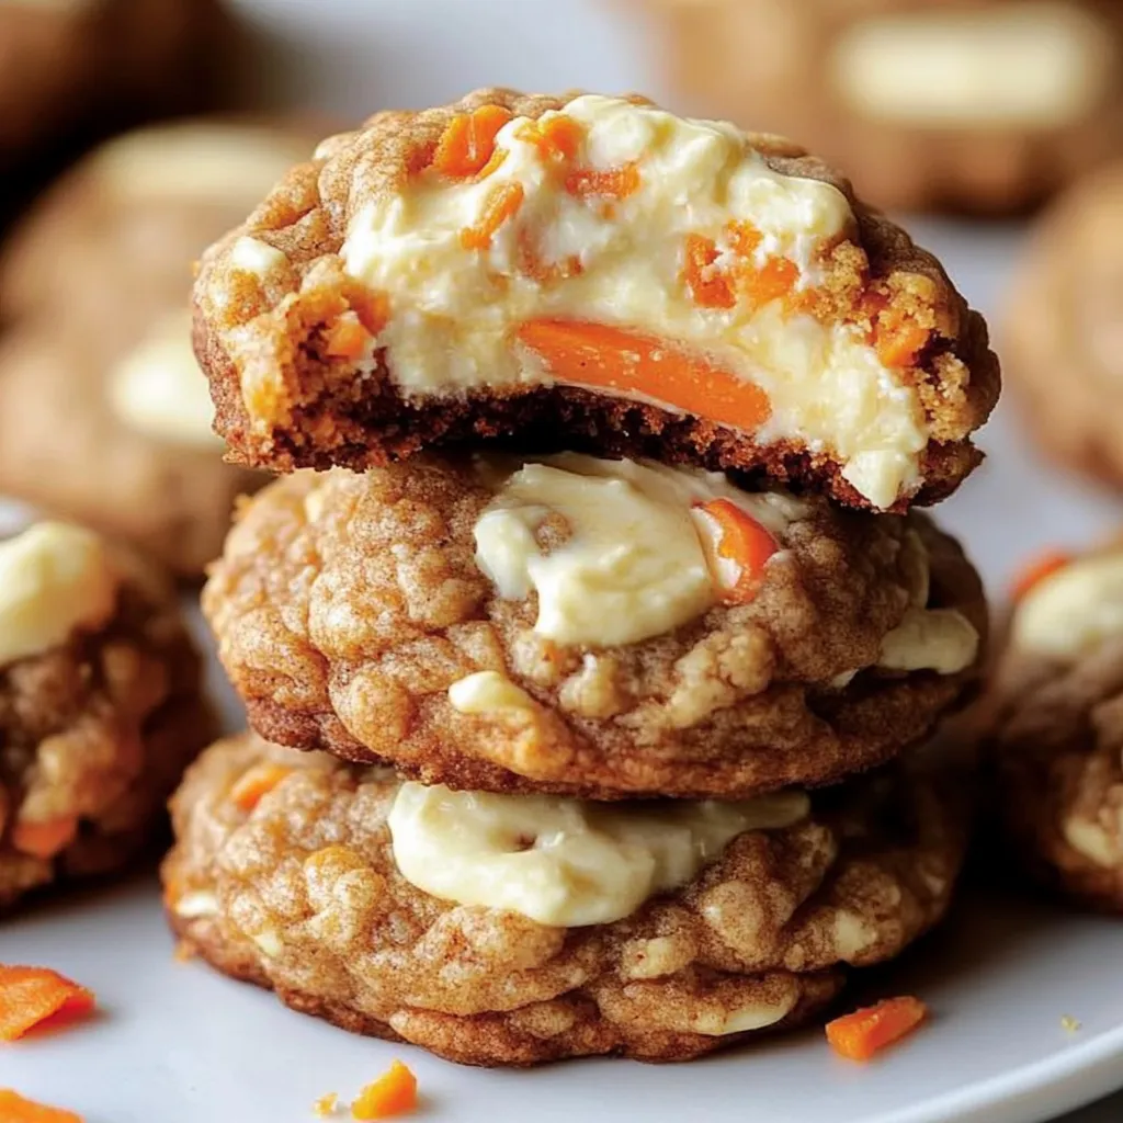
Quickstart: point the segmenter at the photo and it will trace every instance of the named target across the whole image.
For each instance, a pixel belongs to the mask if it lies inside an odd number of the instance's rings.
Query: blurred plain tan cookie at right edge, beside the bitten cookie
[[[1070,188],[1014,272],[1004,373],[1039,446],[1123,487],[1123,163]]]

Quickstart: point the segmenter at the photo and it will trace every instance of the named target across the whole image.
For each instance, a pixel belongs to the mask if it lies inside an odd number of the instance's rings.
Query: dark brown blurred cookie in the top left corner
[[[0,199],[99,136],[217,108],[234,40],[220,0],[0,0]]]

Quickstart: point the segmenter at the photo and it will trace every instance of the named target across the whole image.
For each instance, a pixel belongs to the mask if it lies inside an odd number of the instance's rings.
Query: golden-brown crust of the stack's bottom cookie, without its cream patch
[[[247,768],[291,772],[246,812]],[[748,832],[690,884],[612,924],[548,928],[404,880],[385,818],[396,782],[254,734],[220,741],[172,801],[163,877],[188,950],[345,1029],[471,1065],[615,1053],[686,1060],[747,1032],[738,1012],[813,1017],[847,967],[896,956],[947,909],[965,777],[907,770],[816,796]]]

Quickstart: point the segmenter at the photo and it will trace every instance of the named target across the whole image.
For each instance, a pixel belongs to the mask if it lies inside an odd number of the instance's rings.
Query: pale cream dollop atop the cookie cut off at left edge
[[[81,527],[39,522],[0,542],[0,666],[103,624],[117,587],[101,539]]]

